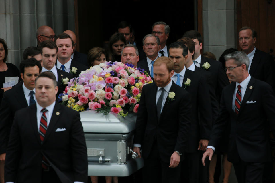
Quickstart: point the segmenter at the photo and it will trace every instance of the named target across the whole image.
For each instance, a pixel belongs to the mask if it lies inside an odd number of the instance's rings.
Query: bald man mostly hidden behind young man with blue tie
[[[76,39],[75,33],[73,31],[71,31],[71,30],[66,30],[63,33],[68,34],[72,38],[72,40],[74,41],[73,51],[72,51],[71,58],[74,61],[80,62],[83,65],[88,66],[87,55],[84,54],[84,53],[80,53],[80,52],[78,52],[78,51],[75,50],[76,49],[76,43],[77,43],[77,39]]]

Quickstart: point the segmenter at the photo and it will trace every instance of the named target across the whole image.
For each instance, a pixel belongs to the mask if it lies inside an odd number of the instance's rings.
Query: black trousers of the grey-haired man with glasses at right
[[[262,183],[264,162],[248,163],[240,159],[233,163],[238,183]]]

